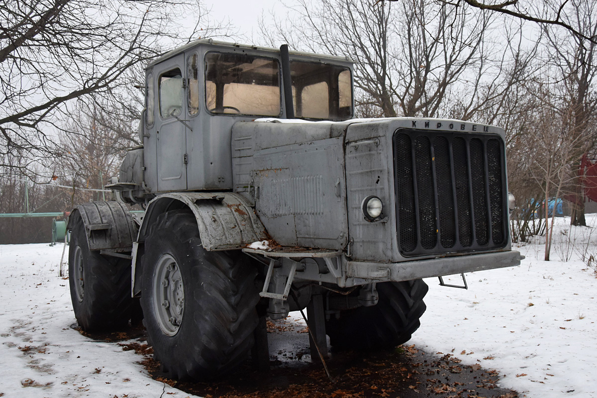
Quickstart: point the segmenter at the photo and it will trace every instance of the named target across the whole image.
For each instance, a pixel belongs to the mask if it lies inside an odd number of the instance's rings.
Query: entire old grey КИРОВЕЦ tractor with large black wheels
[[[343,57],[200,40],[146,69],[140,147],[73,210],[85,331],[143,309],[175,378],[267,361],[266,316],[307,309],[311,351],[405,343],[424,277],[512,267],[504,131],[354,119]],[[127,204],[143,206],[131,214]],[[256,344],[257,342],[257,344]]]

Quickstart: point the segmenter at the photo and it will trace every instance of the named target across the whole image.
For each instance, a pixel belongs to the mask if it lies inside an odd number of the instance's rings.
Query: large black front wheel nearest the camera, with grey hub
[[[254,344],[256,269],[241,252],[206,251],[188,209],[159,215],[141,258],[143,323],[172,378],[233,371]]]

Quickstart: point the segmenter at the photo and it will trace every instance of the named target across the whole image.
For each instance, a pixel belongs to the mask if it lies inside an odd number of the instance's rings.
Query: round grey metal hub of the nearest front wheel
[[[174,336],[184,312],[184,287],[180,268],[170,254],[159,258],[153,272],[153,303],[159,328]]]

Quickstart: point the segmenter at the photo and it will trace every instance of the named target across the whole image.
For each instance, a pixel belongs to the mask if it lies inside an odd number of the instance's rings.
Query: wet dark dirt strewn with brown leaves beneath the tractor
[[[180,382],[168,377],[153,360],[142,327],[116,334],[85,335],[136,351],[152,378],[206,398],[518,397],[516,391],[496,386],[500,380],[497,371],[462,365],[458,354],[464,356],[466,351],[425,353],[414,345],[366,354],[331,351],[326,361],[330,380],[321,362],[310,358],[309,335],[303,324],[293,319],[268,321],[267,329],[270,369],[258,370],[248,360],[234,374],[208,382]]]

